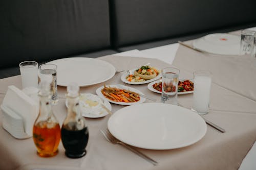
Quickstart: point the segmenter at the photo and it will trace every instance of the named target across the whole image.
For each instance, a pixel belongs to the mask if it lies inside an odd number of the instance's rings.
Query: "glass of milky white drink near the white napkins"
[[[22,88],[36,87],[38,63],[35,61],[24,61],[19,63],[20,75],[22,76]]]

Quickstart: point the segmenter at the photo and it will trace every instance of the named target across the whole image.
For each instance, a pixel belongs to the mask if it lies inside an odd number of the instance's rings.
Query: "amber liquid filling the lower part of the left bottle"
[[[39,156],[57,155],[60,141],[59,124],[55,123],[49,127],[46,122],[38,122],[33,127],[33,139]]]

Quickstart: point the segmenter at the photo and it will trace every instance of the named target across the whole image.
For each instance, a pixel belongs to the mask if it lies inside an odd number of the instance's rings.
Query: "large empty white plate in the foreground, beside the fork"
[[[186,108],[143,103],[115,112],[109,118],[108,129],[117,139],[134,147],[168,150],[196,143],[207,127],[201,116]]]

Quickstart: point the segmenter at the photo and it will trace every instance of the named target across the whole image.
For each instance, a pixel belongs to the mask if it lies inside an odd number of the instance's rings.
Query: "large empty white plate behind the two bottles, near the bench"
[[[68,86],[70,82],[90,86],[111,79],[116,72],[110,63],[87,57],[63,58],[49,63],[57,65],[59,86]]]

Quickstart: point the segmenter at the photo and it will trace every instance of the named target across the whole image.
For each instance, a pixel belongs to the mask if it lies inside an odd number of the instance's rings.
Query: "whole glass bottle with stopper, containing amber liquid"
[[[58,153],[60,126],[50,104],[50,84],[40,82],[38,95],[40,98],[40,108],[33,126],[33,140],[39,156],[51,157]]]

